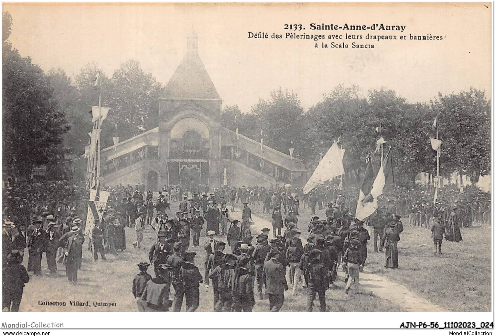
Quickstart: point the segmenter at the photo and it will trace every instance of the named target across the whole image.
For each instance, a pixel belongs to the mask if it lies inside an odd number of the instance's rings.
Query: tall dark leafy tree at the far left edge
[[[8,13],[2,17],[3,167],[8,174],[25,178],[35,165],[64,160],[59,145],[69,126],[56,108],[47,76],[6,41],[12,21]]]

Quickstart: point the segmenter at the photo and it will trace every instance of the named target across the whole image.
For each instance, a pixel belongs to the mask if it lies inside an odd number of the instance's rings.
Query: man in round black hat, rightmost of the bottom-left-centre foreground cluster
[[[203,277],[198,267],[194,265],[196,252],[186,252],[184,263],[179,271],[179,279],[184,286],[186,297],[186,312],[194,312],[199,306],[199,284],[203,283]],[[181,302],[182,305],[182,302]]]

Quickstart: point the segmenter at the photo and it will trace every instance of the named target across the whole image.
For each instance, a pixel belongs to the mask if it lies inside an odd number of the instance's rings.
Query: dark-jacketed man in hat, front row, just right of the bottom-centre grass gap
[[[215,312],[230,312],[232,306],[232,283],[234,282],[235,261],[237,257],[232,253],[225,254],[225,263],[217,265],[211,271],[209,278],[216,284],[219,298],[214,303]],[[215,288],[215,285],[213,285]]]

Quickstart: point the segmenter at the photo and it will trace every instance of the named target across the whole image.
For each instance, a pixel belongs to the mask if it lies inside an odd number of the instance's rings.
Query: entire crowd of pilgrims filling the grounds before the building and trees
[[[200,283],[205,287],[211,283],[214,311],[251,311],[255,297],[260,300],[265,295],[270,311],[279,311],[289,287],[296,295],[300,287],[304,288],[308,311],[318,294],[320,309],[325,311],[325,291],[336,280],[339,267],[346,274],[346,293],[352,287],[360,291],[359,272],[365,266],[371,237],[375,252],[385,249],[384,266],[398,267],[401,216],[409,217],[408,226],[429,228],[434,253],[440,255],[444,238],[461,241],[460,228],[490,221],[491,207],[490,195],[475,188],[462,192],[443,189],[440,202],[435,204],[426,187],[392,188],[387,198],[380,200],[379,209],[361,221],[353,215],[357,188],[339,190],[336,185],[322,185],[307,195],[300,187],[290,185],[227,185],[212,190],[204,185],[164,186],[157,197],[151,190],[145,192],[144,184],[107,190],[107,207],[85,237],[89,193],[83,187],[63,181],[5,186],[2,309],[18,310],[22,288],[29,281],[27,272],[42,274],[43,253],[49,273],[56,273],[57,264],[64,264],[68,282],[77,284],[83,244],[89,242],[88,249],[97,262],[99,256],[106,258],[105,253],[126,250],[125,228],[130,227],[136,232],[136,250],[142,248],[147,228],[156,237],[148,251],[149,262],[138,265],[140,273],[133,282],[140,311],[180,311],[184,298],[186,310],[195,311]],[[179,202],[174,216],[170,214],[171,202]],[[233,219],[231,212],[239,204],[243,207],[242,219]],[[271,229],[264,228],[257,235],[252,232],[249,204],[259,204],[260,211],[271,216]],[[306,208],[312,218],[301,225],[299,215]],[[306,229],[307,243],[303,245],[301,230]],[[203,235],[207,240],[201,274],[194,263],[197,252],[190,247],[198,247]],[[230,253],[224,252],[227,245]],[[27,270],[23,270],[26,248],[29,257]],[[150,265],[154,278],[147,273]],[[174,288],[173,299],[170,287]]]

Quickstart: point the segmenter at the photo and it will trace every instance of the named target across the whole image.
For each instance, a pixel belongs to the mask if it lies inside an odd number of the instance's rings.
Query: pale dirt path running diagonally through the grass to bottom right
[[[232,213],[233,218],[241,219],[242,210],[236,209]],[[272,224],[266,219],[260,218],[252,214],[252,219],[254,225],[251,226],[251,231],[253,236],[256,236],[261,232],[261,229],[268,227],[272,229]],[[270,232],[271,236],[271,232]],[[303,244],[305,244],[305,239],[302,239]],[[339,270],[339,278],[344,279],[345,274],[342,270]],[[409,291],[405,286],[396,284],[390,281],[384,276],[374,274],[370,271],[364,271],[360,273],[360,284],[364,291],[371,292],[378,297],[387,299],[397,305],[402,309],[409,312],[445,312],[444,308],[437,304],[434,304],[427,299],[424,299],[411,291]]]

